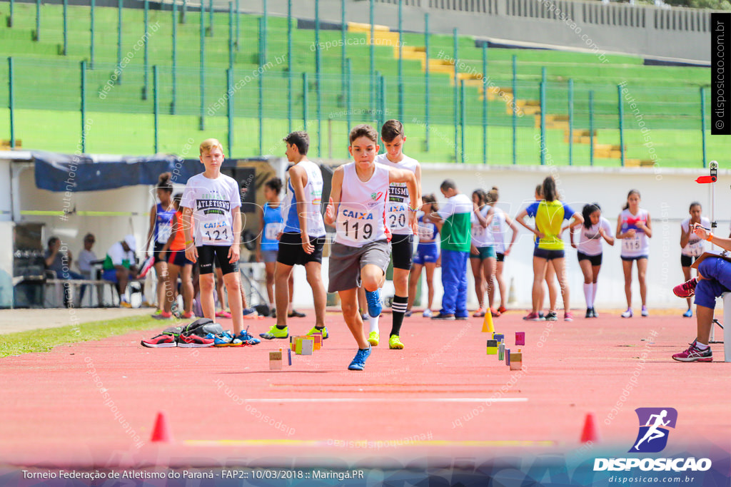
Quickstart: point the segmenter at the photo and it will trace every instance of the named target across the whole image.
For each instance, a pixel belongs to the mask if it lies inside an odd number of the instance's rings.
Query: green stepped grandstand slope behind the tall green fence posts
[[[0,1],[0,18],[7,15],[8,2]],[[23,139],[23,146],[42,150],[73,152],[80,138],[80,61],[89,58],[89,9],[69,7],[69,53],[59,55],[62,42],[61,6],[42,5],[41,37],[32,41],[35,29],[35,5],[15,4],[15,20],[12,28],[0,23],[0,55],[15,57],[15,137]],[[105,87],[115,70],[117,59],[117,9],[98,7],[95,11],[95,63],[86,71],[86,109],[94,119],[94,128],[88,134],[88,152],[98,153],[151,153],[153,150],[153,96],[151,69],[147,72],[148,96],[143,99],[145,71],[143,51],[134,53],[124,69],[121,82],[103,99],[99,92]],[[143,11],[123,11],[123,55],[132,50],[143,35]],[[159,23],[159,30],[148,42],[150,65],[159,66],[159,141],[163,152],[179,153],[188,137],[196,139],[219,137],[227,139],[226,108],[206,117],[206,130],[198,130],[200,114],[200,14],[189,12],[185,24],[177,26],[177,71],[173,85],[171,69],[172,13],[150,12],[150,23]],[[254,15],[240,15],[241,47],[235,53],[234,83],[250,76],[259,67],[258,20]],[[208,15],[205,16],[208,26]],[[205,88],[204,112],[213,105],[227,88],[228,66],[228,15],[214,15],[213,37],[205,38]],[[365,34],[348,33],[355,42],[347,45],[347,55],[352,59],[350,104],[342,89],[341,48],[321,50],[322,55],[322,127],[327,134],[328,123],[333,138],[340,141],[347,132],[346,108],[357,114],[366,113],[371,107],[370,49],[362,42]],[[338,42],[339,31],[321,31],[320,41]],[[289,129],[287,123],[288,80],[287,62],[276,63],[287,53],[287,19],[270,17],[268,20],[268,61],[262,85],[263,134],[262,152],[279,154],[282,134]],[[303,111],[306,109],[308,131],[317,147],[317,84],[314,80],[314,31],[293,29],[292,59],[292,129],[302,128]],[[424,45],[422,34],[404,34],[406,45]],[[430,38],[431,58],[439,51],[452,56],[453,39],[449,35],[433,35]],[[459,58],[482,72],[482,49],[474,46],[474,38],[458,38]],[[387,116],[398,117],[398,64],[393,47],[376,46],[376,71],[385,76]],[[636,100],[640,115],[653,131],[656,146],[663,147],[662,159],[668,166],[697,166],[700,153],[700,93],[699,87],[708,85],[709,69],[693,67],[643,66],[642,58],[633,55],[610,55],[609,63],[602,64],[591,53],[569,53],[550,50],[490,49],[488,74],[491,82],[501,88],[512,85],[512,56],[518,58],[517,97],[523,100],[539,99],[539,81],[542,68],[547,69],[547,110],[549,115],[565,115],[569,105],[569,78],[574,81],[574,123],[577,129],[588,128],[588,96],[594,96],[594,128],[599,130],[599,143],[618,144],[618,93],[617,84],[626,82],[631,96]],[[466,70],[466,69],[465,69]],[[38,76],[39,72],[53,73]],[[303,87],[302,73],[309,75],[308,85]],[[404,121],[425,120],[425,79],[419,61],[404,61]],[[0,69],[0,85],[7,83],[7,69]],[[175,88],[175,117],[173,115],[173,87]],[[454,144],[454,87],[448,74],[431,74],[429,97],[431,147],[424,150],[425,129],[415,124],[409,128],[412,153],[423,161],[452,161]],[[254,156],[259,150],[259,81],[251,80],[233,96],[235,110],[234,156]],[[305,93],[307,106],[304,107]],[[466,144],[470,161],[482,161],[482,101],[473,86],[466,86]],[[7,90],[0,90],[0,106],[7,107]],[[706,97],[706,122],[710,126],[711,97]],[[512,115],[506,111],[503,101],[488,102],[490,126],[489,161],[501,164],[512,162]],[[1,111],[0,111],[1,113]],[[7,112],[6,112],[7,113]],[[354,115],[353,123],[371,122],[371,115]],[[330,121],[331,119],[331,121]],[[0,120],[7,120],[4,116]],[[640,142],[635,115],[624,103],[627,157],[645,158]],[[6,125],[3,124],[3,127]],[[537,164],[534,117],[518,120],[518,164]],[[685,131],[685,132],[684,132]],[[126,137],[117,137],[124,134]],[[690,134],[690,135],[688,135]],[[7,129],[0,130],[0,138],[9,138]],[[696,137],[696,135],[698,137]],[[323,135],[325,137],[325,135]],[[723,150],[715,141],[708,139],[708,150]],[[566,161],[568,145],[563,142],[563,131],[548,134],[550,152],[556,160]],[[329,141],[322,142],[322,157],[330,154]],[[333,156],[345,156],[343,143],[333,141]],[[588,147],[575,145],[575,164],[588,161]],[[507,162],[505,159],[507,158]],[[558,163],[557,164],[561,164]],[[565,164],[565,163],[564,163]],[[588,163],[587,163],[588,164]],[[597,165],[615,165],[616,160],[595,161]]]

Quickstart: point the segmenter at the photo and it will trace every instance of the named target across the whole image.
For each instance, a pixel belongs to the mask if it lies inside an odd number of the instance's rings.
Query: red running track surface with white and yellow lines
[[[675,407],[675,439],[731,451],[731,364],[722,362],[722,345],[713,345],[711,364],[670,359],[694,337],[694,320],[604,314],[528,323],[522,315],[495,320],[510,348],[515,331],[526,332],[520,372],[485,354],[481,318],[420,315],[406,318],[404,350],[388,350],[391,316],[384,315],[382,344],[365,371],[352,372],[355,342],[334,312],[325,347],[293,356],[282,371],[269,370],[268,352],[285,340],[253,348],[140,346],[156,329],[2,358],[0,464],[265,466],[294,457],[387,463],[569,453],[580,448],[586,413],[594,413],[603,445],[626,451],[637,435],[636,407]],[[273,321],[247,323],[258,334]],[[303,334],[312,320],[289,325]],[[149,442],[158,411],[173,443]]]

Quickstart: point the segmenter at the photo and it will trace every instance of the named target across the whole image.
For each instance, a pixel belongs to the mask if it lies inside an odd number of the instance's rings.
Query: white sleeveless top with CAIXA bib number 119
[[[336,218],[335,241],[349,247],[363,247],[368,242],[390,239],[386,229],[386,199],[389,170],[383,164],[368,181],[361,181],[355,162],[343,166],[343,188]]]

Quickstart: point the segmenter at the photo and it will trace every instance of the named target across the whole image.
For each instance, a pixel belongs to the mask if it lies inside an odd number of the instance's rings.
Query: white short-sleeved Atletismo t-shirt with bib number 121
[[[195,175],[186,183],[181,207],[193,210],[195,245],[233,245],[232,210],[241,206],[236,180],[227,175],[209,179]]]

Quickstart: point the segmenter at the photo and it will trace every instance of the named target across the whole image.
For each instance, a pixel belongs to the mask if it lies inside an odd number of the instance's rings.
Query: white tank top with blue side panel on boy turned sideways
[[[303,188],[305,202],[307,203],[306,220],[307,234],[310,237],[322,237],[325,235],[325,222],[322,221],[320,204],[322,203],[322,172],[312,161],[300,161],[298,166],[307,172],[307,184]],[[287,197],[284,199],[282,214],[285,218],[284,231],[300,232],[300,218],[297,208],[297,196],[292,188],[292,183],[287,182]]]

